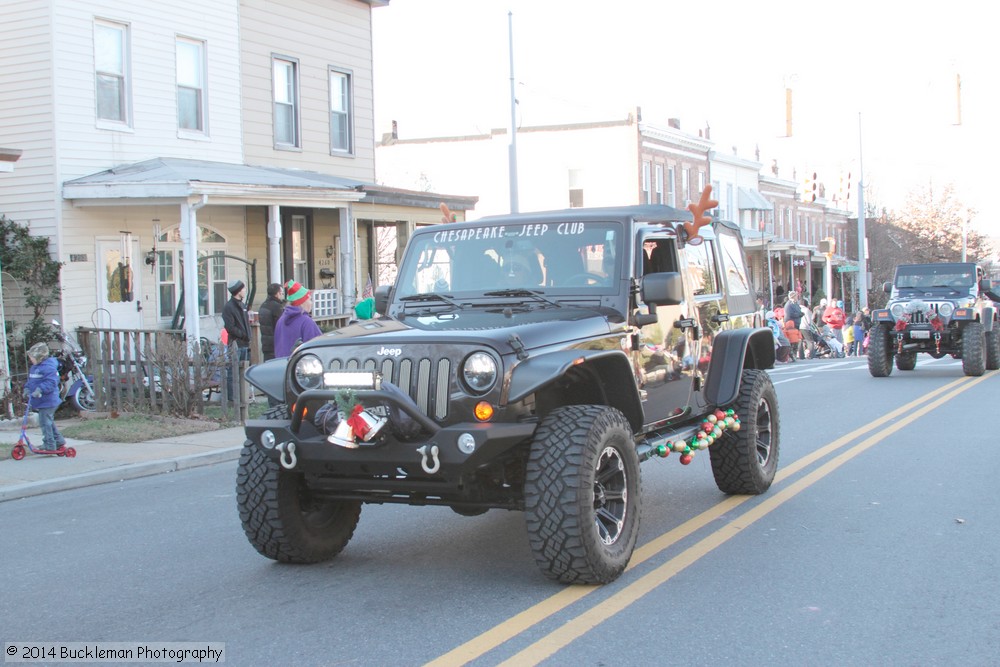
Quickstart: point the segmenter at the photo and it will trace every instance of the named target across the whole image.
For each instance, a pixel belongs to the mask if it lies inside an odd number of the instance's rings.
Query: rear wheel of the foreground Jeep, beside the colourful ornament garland
[[[723,493],[756,495],[767,491],[778,471],[780,418],[778,395],[766,371],[746,369],[732,408],[739,431],[726,431],[708,448],[715,484]]]

